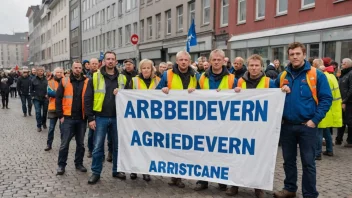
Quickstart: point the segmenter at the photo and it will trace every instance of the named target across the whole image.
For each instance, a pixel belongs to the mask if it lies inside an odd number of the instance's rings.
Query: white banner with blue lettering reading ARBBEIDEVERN
[[[118,170],[273,189],[280,89],[120,90]]]

